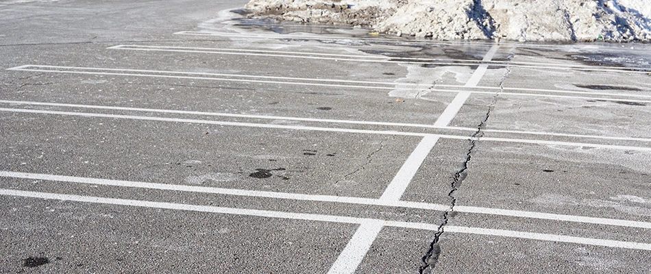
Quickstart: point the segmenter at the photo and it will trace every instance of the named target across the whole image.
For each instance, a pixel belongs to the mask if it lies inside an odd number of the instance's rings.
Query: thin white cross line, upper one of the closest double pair
[[[450,208],[449,205],[443,205],[437,203],[422,203],[422,202],[415,202],[415,201],[395,201],[395,200],[382,200],[382,199],[332,196],[332,195],[309,195],[309,194],[286,193],[286,192],[241,190],[241,189],[232,189],[232,188],[214,188],[214,187],[207,187],[207,186],[185,186],[185,185],[177,185],[177,184],[156,184],[156,183],[147,183],[147,182],[121,181],[121,180],[113,180],[113,179],[73,177],[73,176],[39,174],[39,173],[23,173],[23,172],[14,172],[14,171],[0,171],[0,177],[43,180],[43,181],[53,181],[53,182],[70,182],[70,183],[91,184],[91,185],[98,185],[98,186],[123,186],[129,188],[146,188],[146,189],[173,190],[173,191],[182,191],[182,192],[212,193],[212,194],[234,195],[234,196],[244,196],[244,197],[292,199],[297,201],[323,201],[323,202],[333,202],[333,203],[351,203],[351,204],[359,204],[359,205],[367,205],[367,206],[388,206],[388,207],[398,207],[398,208],[435,210],[435,211],[445,211]],[[474,214],[512,216],[512,217],[528,218],[528,219],[566,221],[572,223],[593,223],[597,225],[613,225],[619,227],[639,227],[639,228],[651,229],[651,223],[621,220],[621,219],[595,218],[589,216],[552,214],[552,213],[545,213],[545,212],[527,212],[521,210],[504,210],[500,208],[480,208],[480,207],[460,206],[460,205],[455,206],[454,211],[474,213]]]

